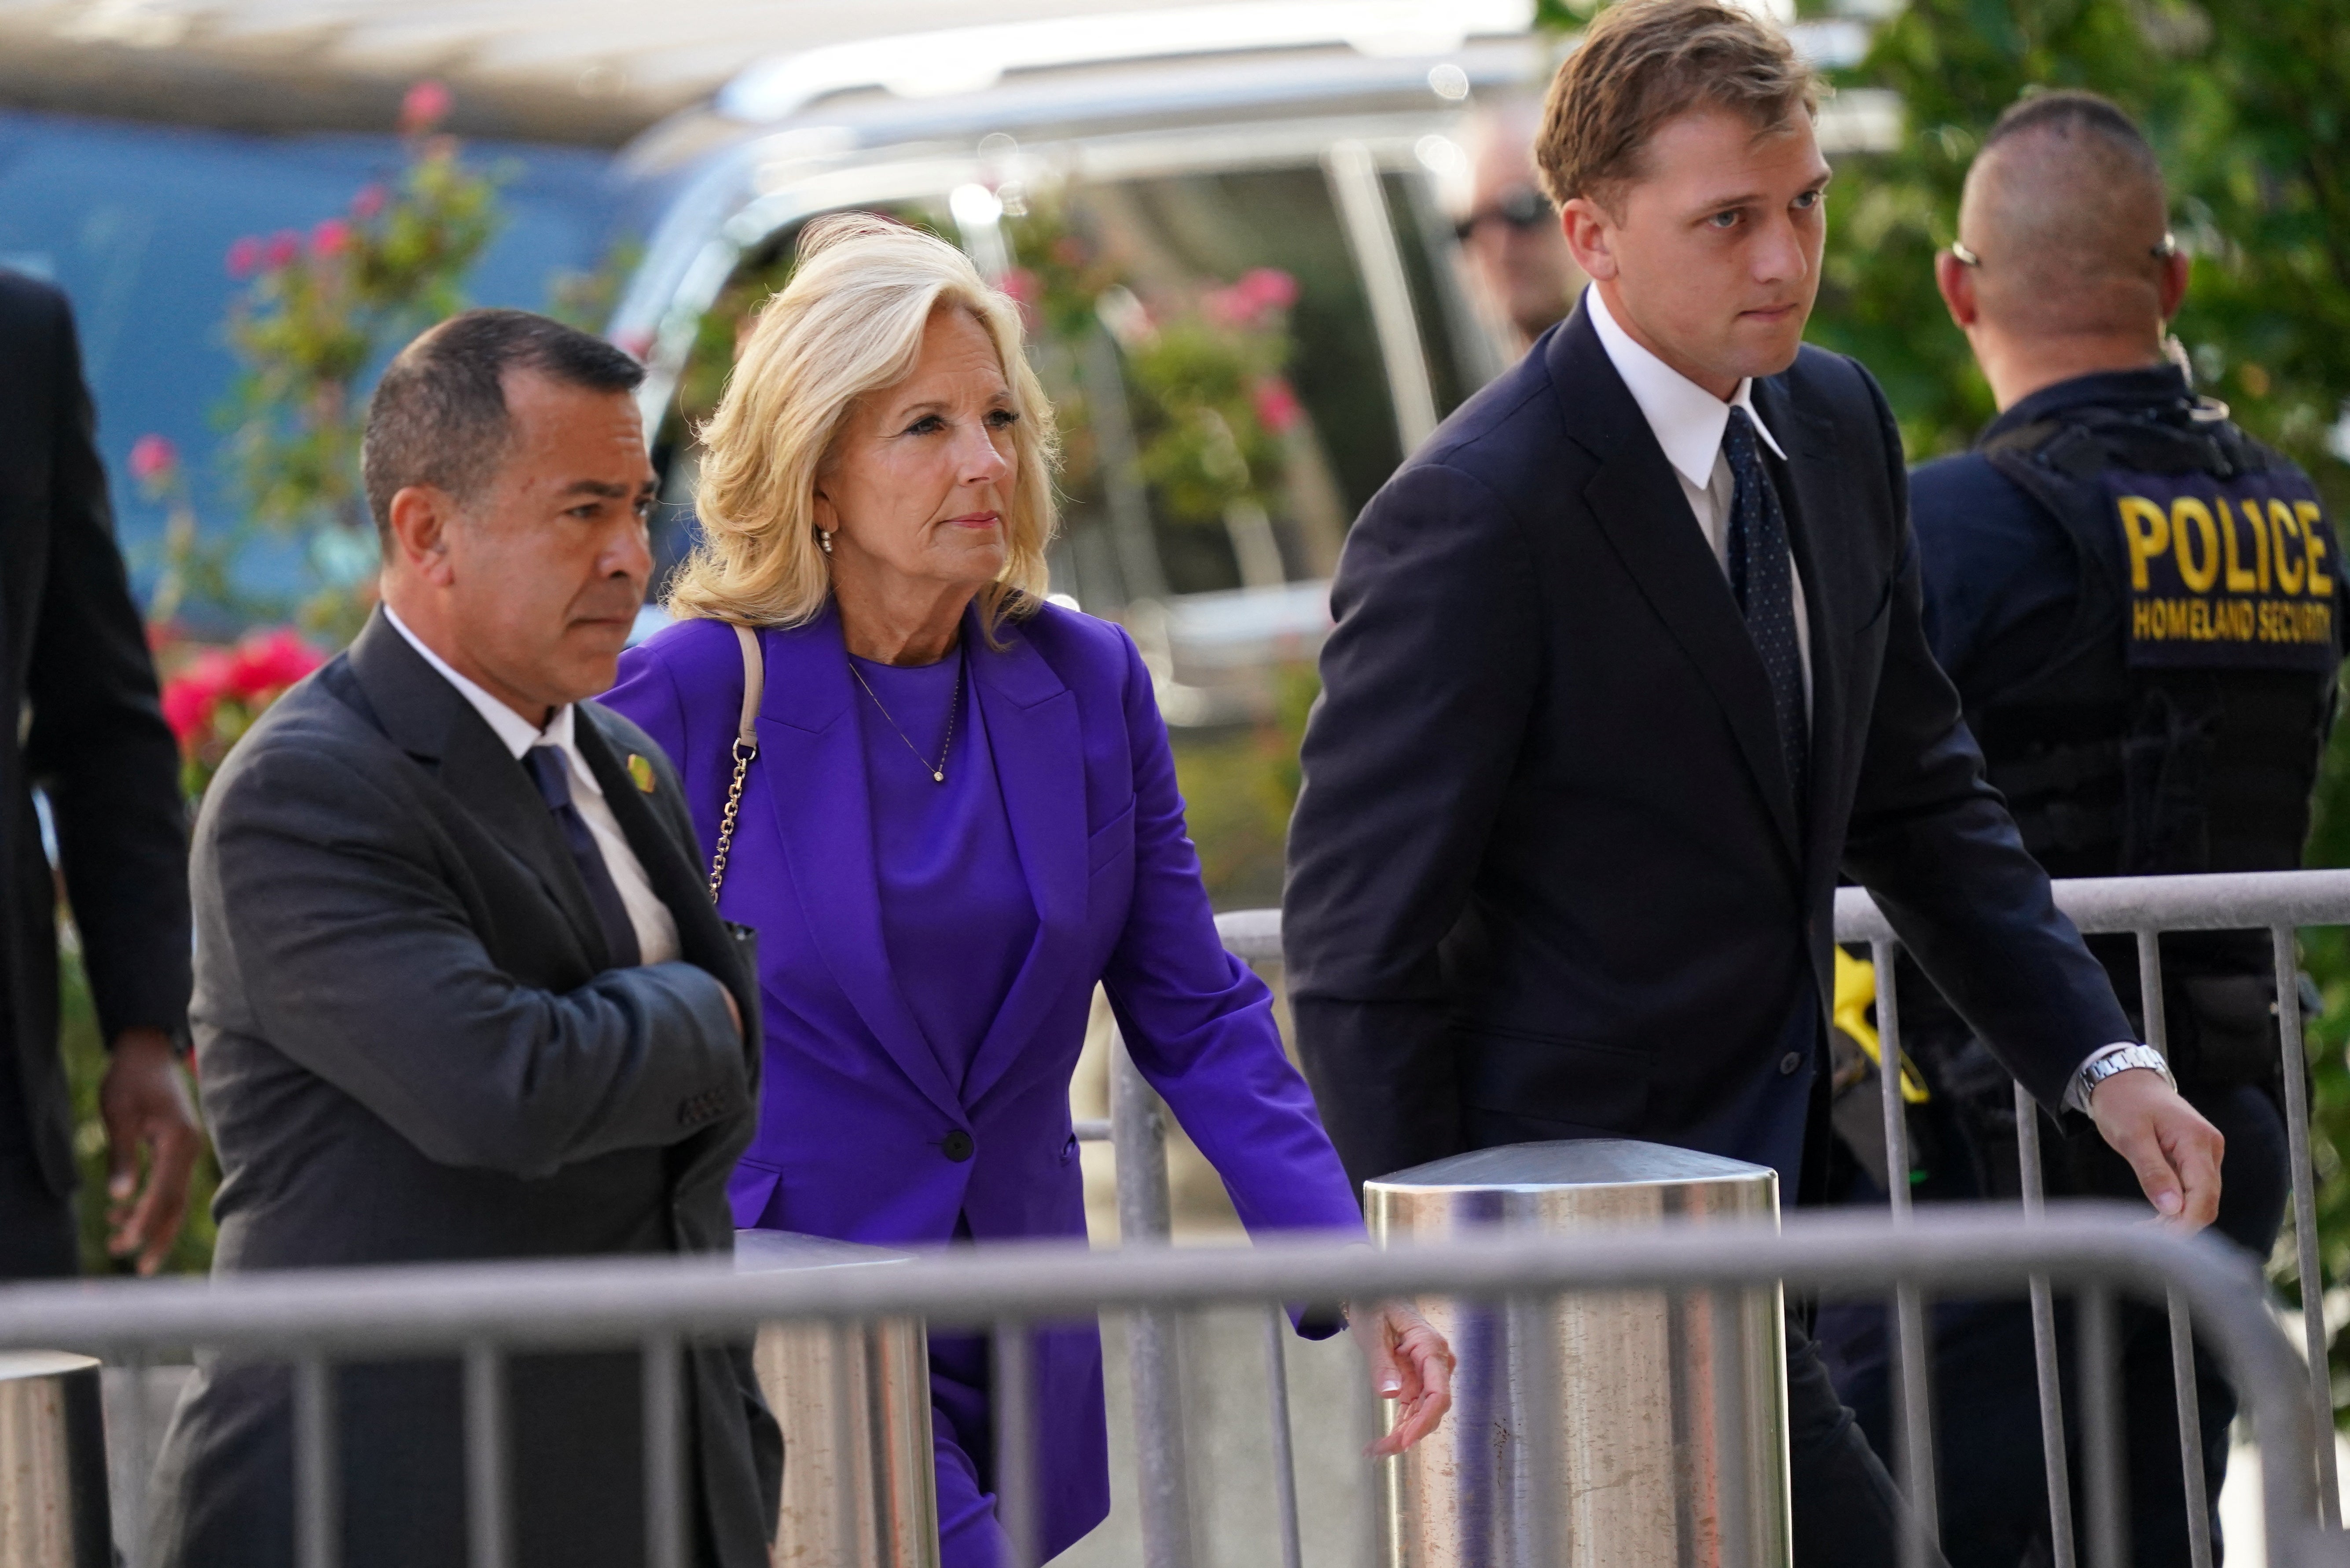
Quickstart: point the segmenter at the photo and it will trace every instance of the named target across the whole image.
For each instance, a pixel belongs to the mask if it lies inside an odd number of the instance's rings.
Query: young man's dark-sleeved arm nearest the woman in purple
[[[1502,498],[1455,468],[1408,468],[1347,536],[1283,950],[1300,1058],[1356,1182],[1459,1150],[1438,945],[1469,903],[1539,679],[1532,583]]]

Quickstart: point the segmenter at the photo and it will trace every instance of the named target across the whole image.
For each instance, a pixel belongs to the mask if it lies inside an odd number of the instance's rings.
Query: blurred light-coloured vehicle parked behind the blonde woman
[[[1198,5],[759,61],[623,155],[674,193],[613,317],[653,369],[667,550],[693,423],[799,226],[884,209],[1029,306],[1067,437],[1055,592],[1128,625],[1173,724],[1271,717],[1347,522],[1520,348],[1455,233],[1462,125],[1553,47],[1525,0]],[[1833,106],[1831,146],[1866,146],[1866,110]]]

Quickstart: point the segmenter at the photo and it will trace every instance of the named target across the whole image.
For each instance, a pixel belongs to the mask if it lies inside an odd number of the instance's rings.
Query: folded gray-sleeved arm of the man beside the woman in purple
[[[468,924],[414,806],[357,766],[280,745],[214,788],[197,898],[219,900],[207,933],[226,931],[261,980],[251,1032],[428,1159],[545,1175],[745,1110],[740,1034],[707,971],[519,985]]]

